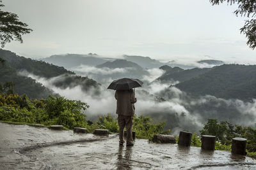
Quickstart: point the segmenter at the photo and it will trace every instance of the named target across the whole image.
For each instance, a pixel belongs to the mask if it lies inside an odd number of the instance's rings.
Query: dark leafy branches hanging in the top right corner
[[[254,50],[256,47],[256,1],[255,0],[210,0],[212,5],[224,3],[237,4],[238,9],[234,11],[236,16],[247,17],[244,26],[240,29],[248,39],[247,45]]]

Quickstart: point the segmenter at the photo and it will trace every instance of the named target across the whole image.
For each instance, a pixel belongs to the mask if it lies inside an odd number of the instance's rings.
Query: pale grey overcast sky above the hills
[[[61,53],[256,64],[236,6],[209,0],[3,0],[33,32],[4,49],[24,57]],[[211,57],[205,57],[211,56]]]

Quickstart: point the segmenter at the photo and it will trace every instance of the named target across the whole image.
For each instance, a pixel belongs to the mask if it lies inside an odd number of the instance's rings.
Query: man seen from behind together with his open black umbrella
[[[132,124],[134,117],[134,103],[137,99],[135,97],[135,91],[133,88],[141,87],[142,81],[133,78],[122,78],[114,80],[108,87],[108,89],[116,90],[116,114],[118,114],[118,126],[119,126],[119,145],[124,145],[124,127],[127,131],[126,146],[133,146],[132,141]]]

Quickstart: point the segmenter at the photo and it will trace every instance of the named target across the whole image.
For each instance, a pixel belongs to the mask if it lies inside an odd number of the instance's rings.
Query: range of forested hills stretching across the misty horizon
[[[40,83],[36,83],[28,77],[25,78],[24,76],[21,76],[19,74],[20,71],[25,70],[35,76],[48,79],[61,76],[60,79],[56,79],[53,82],[53,85],[63,89],[81,85],[83,90],[88,90],[91,86],[99,86],[97,81],[88,78],[86,75],[77,76],[74,71],[68,71],[65,67],[54,66],[53,64],[48,64],[42,60],[38,61],[20,57],[7,50],[0,50],[0,57],[1,59],[6,60],[6,64],[1,67],[0,82],[14,81],[17,87],[19,87],[19,89],[16,89],[17,92],[26,92],[29,96],[34,98],[40,97],[40,93],[38,92],[44,92],[45,95],[41,95],[45,97],[46,95],[51,94],[51,90],[43,87]],[[55,62],[60,62],[61,57],[70,61],[68,62],[68,66],[70,67],[77,66],[78,59],[81,59],[87,61],[87,64],[90,61],[90,64],[99,69],[106,68],[113,70],[118,68],[116,73],[104,74],[100,78],[120,78],[122,76],[141,78],[143,76],[148,76],[149,73],[141,67],[140,64],[144,63],[144,67],[149,66],[149,63],[151,63],[150,67],[159,66],[161,64],[161,62],[150,59],[149,57],[125,55],[125,60],[110,60],[102,59],[92,53],[86,56],[73,54],[53,55],[45,60],[49,61],[49,59],[54,59]],[[137,64],[134,61],[140,62],[140,64]],[[222,64],[220,60],[201,60],[200,62],[207,62],[207,64]],[[164,70],[164,74],[157,78],[157,81],[161,81],[162,83],[179,81],[175,87],[193,96],[212,95],[223,97],[225,99],[234,98],[244,101],[248,101],[256,96],[256,66],[223,64],[221,66],[210,68],[182,69],[180,67],[165,65],[159,68]],[[120,73],[122,72],[122,69],[124,69],[124,71],[123,73]],[[37,90],[33,90],[32,86]],[[38,93],[38,96],[36,96],[36,93]]]

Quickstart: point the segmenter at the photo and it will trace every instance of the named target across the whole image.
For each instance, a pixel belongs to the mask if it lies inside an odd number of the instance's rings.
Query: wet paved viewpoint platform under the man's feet
[[[256,169],[256,160],[177,144],[0,123],[0,169]]]

